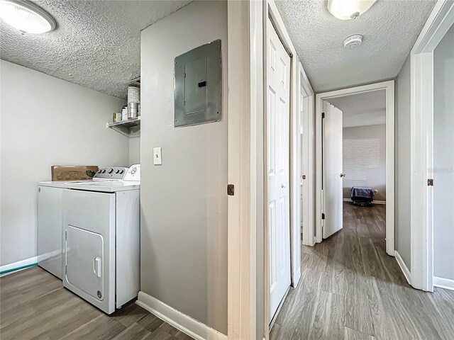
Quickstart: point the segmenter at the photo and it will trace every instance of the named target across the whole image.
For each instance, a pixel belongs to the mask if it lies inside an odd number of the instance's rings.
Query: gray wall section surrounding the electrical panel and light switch
[[[222,40],[222,121],[174,128],[174,59]],[[141,290],[227,334],[227,3],[194,1],[141,36]],[[162,165],[153,166],[153,147]]]

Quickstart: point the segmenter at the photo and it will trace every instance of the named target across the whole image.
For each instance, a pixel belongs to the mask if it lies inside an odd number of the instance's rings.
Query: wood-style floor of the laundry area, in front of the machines
[[[135,303],[108,316],[39,267],[0,278],[0,339],[188,340]]]

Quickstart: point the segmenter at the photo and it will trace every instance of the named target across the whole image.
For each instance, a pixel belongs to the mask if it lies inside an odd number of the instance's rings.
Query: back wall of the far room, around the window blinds
[[[343,148],[343,172],[346,174],[343,179],[343,198],[350,198],[350,189],[352,186],[369,186],[378,193],[375,194],[375,200],[386,200],[386,125],[365,125],[355,126],[351,128],[343,128],[343,140],[348,139],[360,139],[374,138],[379,142],[377,160],[378,163],[375,166],[368,162],[368,166],[364,167],[365,179],[352,178],[353,174],[349,174],[347,169],[348,150]],[[364,161],[366,158],[362,158]],[[351,159],[353,162],[357,162],[358,159]],[[366,164],[366,165],[367,165]],[[350,175],[350,176],[349,176]]]

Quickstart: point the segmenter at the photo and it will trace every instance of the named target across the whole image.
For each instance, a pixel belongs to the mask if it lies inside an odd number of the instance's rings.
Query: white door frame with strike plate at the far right
[[[454,24],[454,2],[438,0],[411,50],[411,280],[433,291],[433,51]]]

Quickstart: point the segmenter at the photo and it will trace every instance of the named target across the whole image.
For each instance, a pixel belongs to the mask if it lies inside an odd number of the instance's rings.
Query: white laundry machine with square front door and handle
[[[122,179],[106,178],[117,170],[63,192],[63,285],[107,314],[140,288],[140,164]]]

